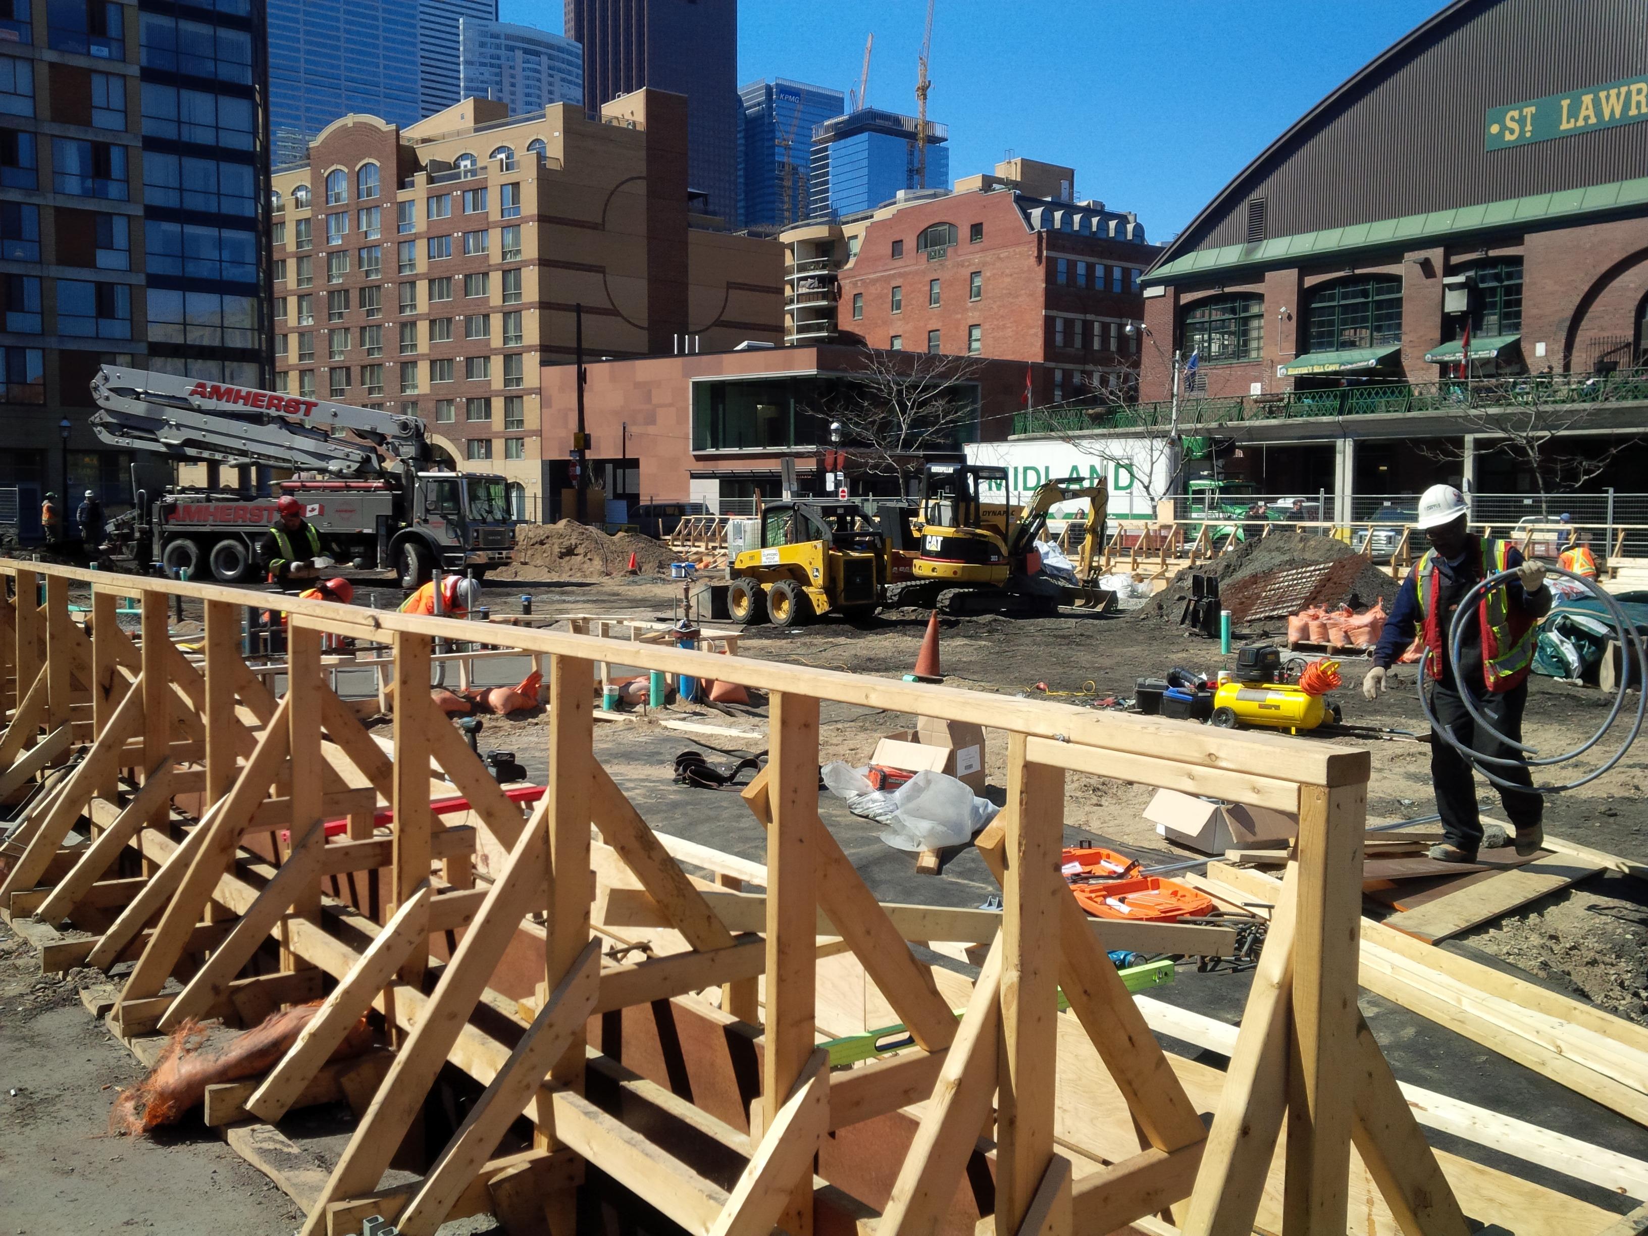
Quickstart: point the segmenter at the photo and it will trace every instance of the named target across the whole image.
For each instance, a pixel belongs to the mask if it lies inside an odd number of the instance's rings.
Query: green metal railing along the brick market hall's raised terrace
[[[1332,391],[1277,391],[1228,399],[1180,399],[1180,428],[1310,417],[1402,415],[1496,407],[1648,402],[1648,369],[1599,374],[1531,374],[1440,382],[1389,382]],[[1014,415],[1014,433],[1083,433],[1101,428],[1160,428],[1173,422],[1173,405],[1144,404],[1030,409]]]

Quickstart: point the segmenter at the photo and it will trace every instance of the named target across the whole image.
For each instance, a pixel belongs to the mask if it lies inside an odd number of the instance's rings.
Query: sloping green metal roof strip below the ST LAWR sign
[[[1144,283],[1173,283],[1187,279],[1248,267],[1280,267],[1318,262],[1356,249],[1417,247],[1468,232],[1503,227],[1538,227],[1566,222],[1587,214],[1630,208],[1648,209],[1648,176],[1592,185],[1589,190],[1536,193],[1529,198],[1506,198],[1483,206],[1455,206],[1450,211],[1404,214],[1399,219],[1328,227],[1320,232],[1274,236],[1259,244],[1226,244],[1198,249],[1173,259],[1144,277]]]

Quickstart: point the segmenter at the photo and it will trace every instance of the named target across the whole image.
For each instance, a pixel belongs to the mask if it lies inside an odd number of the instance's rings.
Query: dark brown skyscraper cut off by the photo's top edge
[[[583,109],[651,86],[687,96],[689,186],[730,224],[738,211],[738,2],[565,0],[583,44]]]

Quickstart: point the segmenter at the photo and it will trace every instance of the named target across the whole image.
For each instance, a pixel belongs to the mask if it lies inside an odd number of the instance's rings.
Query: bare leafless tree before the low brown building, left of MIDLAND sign
[[[898,476],[903,491],[923,456],[957,450],[959,430],[979,414],[982,369],[974,356],[865,348],[816,410],[840,424],[842,447],[860,468]]]

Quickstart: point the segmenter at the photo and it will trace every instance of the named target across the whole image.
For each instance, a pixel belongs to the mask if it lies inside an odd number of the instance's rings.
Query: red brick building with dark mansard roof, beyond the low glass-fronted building
[[[1012,160],[954,193],[783,234],[789,338],[1033,361],[1035,404],[1134,382],[1139,279],[1160,249],[1137,216],[1071,201],[1074,171]]]

